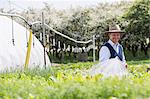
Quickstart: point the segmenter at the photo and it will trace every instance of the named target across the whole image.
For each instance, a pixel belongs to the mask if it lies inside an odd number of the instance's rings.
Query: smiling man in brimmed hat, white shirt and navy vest
[[[121,39],[121,35],[123,33],[119,25],[109,26],[109,31],[106,33],[109,36],[109,40],[104,45],[102,45],[100,49],[100,62],[104,62],[111,58],[118,58],[127,68],[123,47],[121,44],[119,44],[119,40]]]

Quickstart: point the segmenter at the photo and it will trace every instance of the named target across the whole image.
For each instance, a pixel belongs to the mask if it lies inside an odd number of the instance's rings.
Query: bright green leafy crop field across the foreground
[[[124,78],[90,77],[92,62],[0,74],[0,99],[149,99],[150,60],[128,61]]]

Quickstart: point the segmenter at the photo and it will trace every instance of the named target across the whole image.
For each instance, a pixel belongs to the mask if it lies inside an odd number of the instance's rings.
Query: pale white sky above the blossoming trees
[[[119,2],[122,0],[0,0],[0,8],[5,10],[16,9],[17,11],[25,10],[27,8],[42,8],[44,2],[56,9],[67,9],[72,7],[91,7],[96,6],[98,3],[104,2]],[[133,1],[133,0],[125,0]]]

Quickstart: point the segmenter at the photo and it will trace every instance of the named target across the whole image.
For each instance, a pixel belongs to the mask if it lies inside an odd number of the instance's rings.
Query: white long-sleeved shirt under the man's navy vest
[[[108,40],[108,43],[114,48],[114,50],[119,53],[119,46],[120,44],[117,43],[113,43],[111,40]],[[123,55],[123,60],[122,62],[124,63],[124,65],[126,64],[126,60],[125,60],[125,56],[124,56],[124,52],[122,51],[122,55]],[[100,62],[104,62],[106,60],[108,60],[110,58],[111,54],[109,49],[106,46],[102,46],[99,52],[99,61]],[[118,56],[116,56],[116,58],[119,58]]]

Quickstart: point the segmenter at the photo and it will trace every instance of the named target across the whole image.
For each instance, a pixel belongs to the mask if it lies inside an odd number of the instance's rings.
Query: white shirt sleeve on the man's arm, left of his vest
[[[99,61],[104,62],[110,58],[110,51],[106,46],[102,46],[99,51]]]

